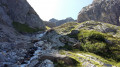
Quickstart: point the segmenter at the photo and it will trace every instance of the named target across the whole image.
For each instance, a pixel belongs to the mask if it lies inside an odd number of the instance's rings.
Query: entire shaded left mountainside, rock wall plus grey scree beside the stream
[[[0,67],[17,67],[34,47],[31,33],[44,30],[26,0],[0,0]]]

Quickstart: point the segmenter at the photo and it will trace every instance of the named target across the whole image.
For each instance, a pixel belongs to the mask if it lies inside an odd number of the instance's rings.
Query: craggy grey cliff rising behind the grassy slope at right
[[[84,7],[79,15],[78,22],[88,20],[120,25],[120,0],[93,0],[93,3]]]

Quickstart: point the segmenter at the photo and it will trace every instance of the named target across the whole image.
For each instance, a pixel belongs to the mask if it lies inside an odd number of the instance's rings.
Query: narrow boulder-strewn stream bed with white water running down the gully
[[[46,32],[39,34],[36,36],[37,39],[41,39],[42,36],[44,36]],[[50,43],[47,41],[38,41],[34,44],[34,47],[31,49],[31,51],[28,54],[26,58],[29,58],[28,60],[24,60],[23,64],[20,65],[20,67],[34,67],[39,63],[39,58],[43,55],[49,55],[53,51],[51,50]],[[39,67],[43,67],[43,64],[45,63],[44,67],[53,67],[53,62],[50,60],[45,60],[39,65]]]

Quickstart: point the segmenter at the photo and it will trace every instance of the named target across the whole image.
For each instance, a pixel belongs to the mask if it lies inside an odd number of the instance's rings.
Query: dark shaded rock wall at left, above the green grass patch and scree
[[[0,23],[11,26],[12,22],[27,24],[33,28],[45,28],[26,0],[0,0]]]

